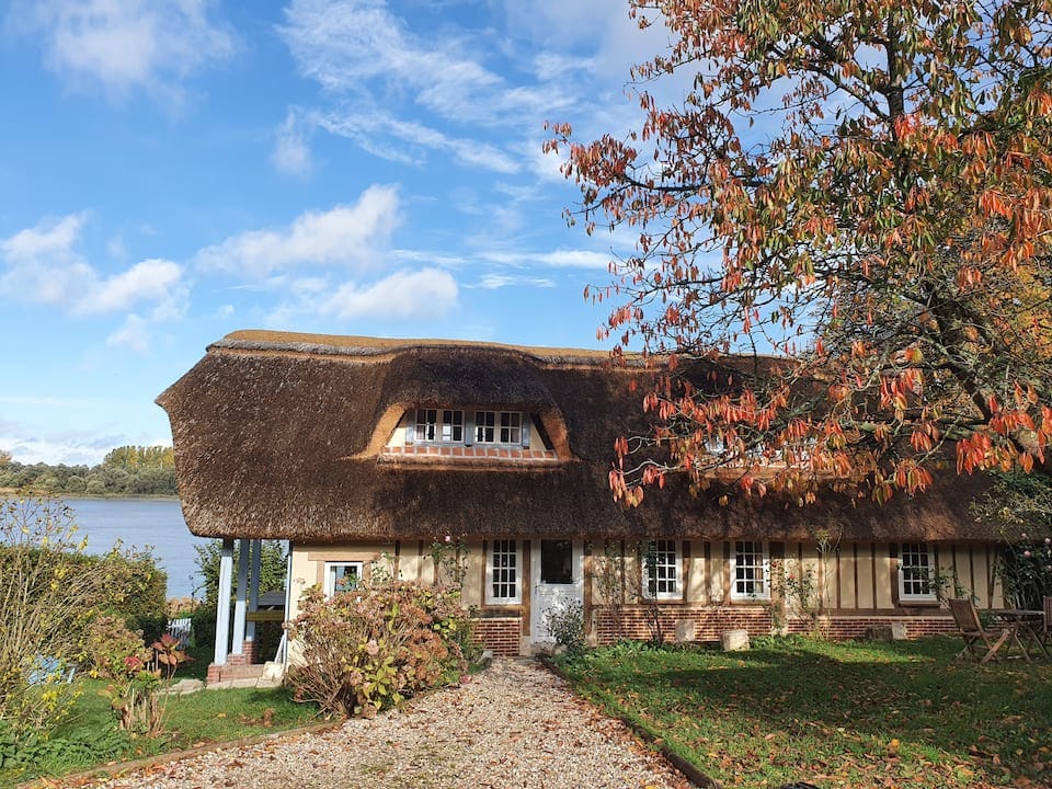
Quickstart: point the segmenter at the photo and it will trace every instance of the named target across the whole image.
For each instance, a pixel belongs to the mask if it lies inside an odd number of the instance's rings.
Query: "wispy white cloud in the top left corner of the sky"
[[[113,98],[136,90],[180,100],[179,81],[231,57],[233,34],[208,0],[24,0],[8,24],[44,38],[47,66]]]

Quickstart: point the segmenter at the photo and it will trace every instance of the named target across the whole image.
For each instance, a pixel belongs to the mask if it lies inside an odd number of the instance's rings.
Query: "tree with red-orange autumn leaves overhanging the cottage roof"
[[[671,41],[633,70],[640,126],[547,144],[582,191],[571,222],[638,238],[591,291],[615,356],[662,370],[615,491],[722,471],[884,501],[950,446],[961,471],[1048,473],[1052,2],[630,5]]]

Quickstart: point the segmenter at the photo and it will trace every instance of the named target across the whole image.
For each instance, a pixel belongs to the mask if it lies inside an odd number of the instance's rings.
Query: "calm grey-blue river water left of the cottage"
[[[174,499],[66,499],[78,535],[88,538],[89,553],[105,553],[116,540],[136,548],[152,547],[158,565],[168,573],[168,596],[188,597],[201,586],[194,537]]]

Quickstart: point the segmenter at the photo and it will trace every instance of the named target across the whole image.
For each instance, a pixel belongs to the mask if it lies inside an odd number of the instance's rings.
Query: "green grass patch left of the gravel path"
[[[118,731],[110,701],[99,695],[107,683],[88,677],[76,682],[81,695],[69,720],[48,742],[34,746],[28,764],[9,764],[0,758],[0,787],[320,720],[317,707],[295,702],[285,688],[202,690],[168,699],[162,735],[133,739]]]

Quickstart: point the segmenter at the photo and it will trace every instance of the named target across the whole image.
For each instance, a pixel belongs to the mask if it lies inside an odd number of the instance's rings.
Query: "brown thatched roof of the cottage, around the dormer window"
[[[627,508],[608,472],[619,435],[645,430],[640,366],[603,352],[451,341],[236,332],[165,390],[190,529],[207,537],[309,541],[443,535],[861,540],[988,539],[948,473],[879,507],[822,496],[697,496],[673,481]],[[556,462],[400,462],[381,450],[415,407],[521,410],[550,434]]]

